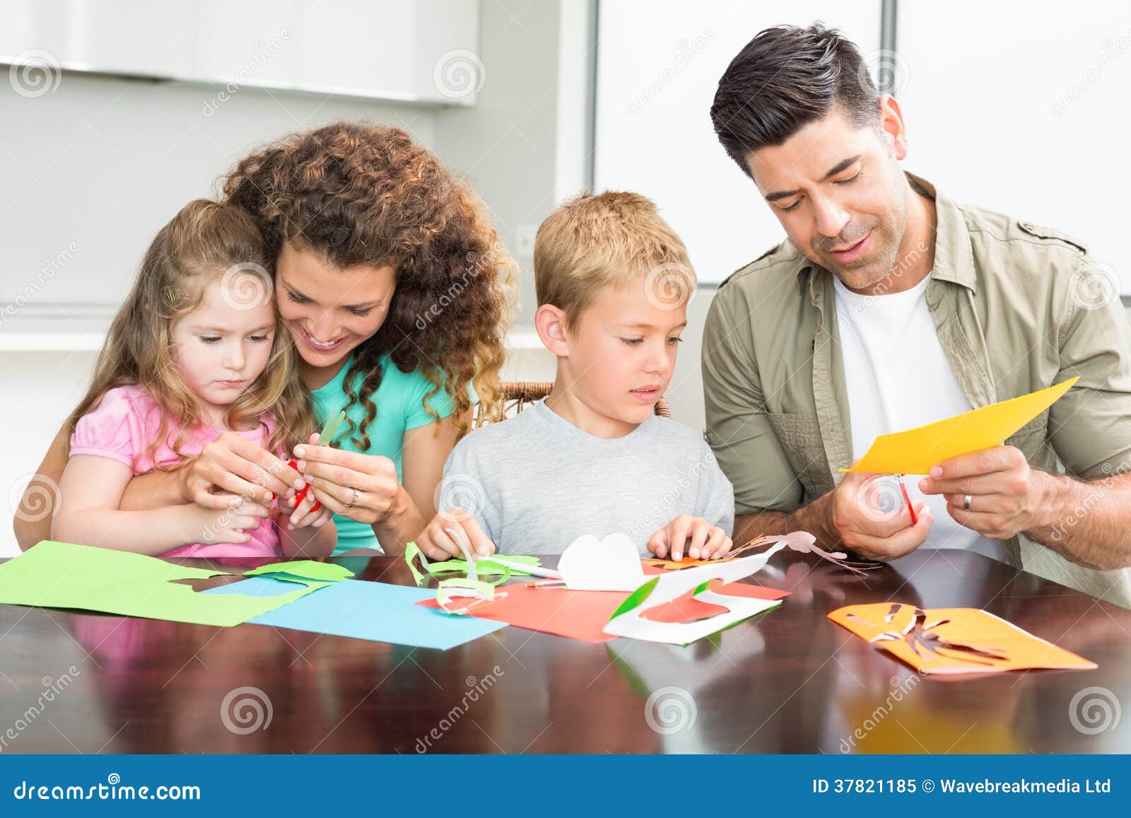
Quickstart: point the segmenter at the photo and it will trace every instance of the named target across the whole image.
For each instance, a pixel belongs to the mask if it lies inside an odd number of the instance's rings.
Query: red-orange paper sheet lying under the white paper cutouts
[[[748,583],[729,583],[713,589],[719,594],[759,600],[780,600],[789,595],[787,591]],[[648,619],[658,622],[687,622],[722,612],[718,605],[691,599],[691,593],[649,611]],[[527,583],[515,583],[499,587],[495,600],[476,606],[472,615],[581,642],[601,643],[616,638],[605,632],[605,625],[628,597],[629,594],[623,591],[536,588]],[[416,604],[439,608],[435,600],[422,600]]]

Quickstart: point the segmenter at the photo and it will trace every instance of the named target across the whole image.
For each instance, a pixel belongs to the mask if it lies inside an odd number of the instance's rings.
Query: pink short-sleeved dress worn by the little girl
[[[172,449],[181,431],[179,428],[172,429],[153,455],[149,454],[149,445],[157,438],[159,428],[161,408],[140,385],[116,387],[106,393],[96,408],[79,419],[75,433],[71,434],[70,454],[71,457],[75,455],[109,457],[132,468],[133,474],[152,472],[155,464],[175,466],[183,460]],[[270,415],[264,415],[253,430],[236,433],[261,447],[274,429],[275,421]],[[221,434],[218,429],[211,427],[196,427],[185,436],[181,451],[187,457],[199,455],[205,446]],[[181,545],[162,557],[216,559],[283,556],[274,520],[261,520],[259,528],[249,533],[251,540],[245,543]]]

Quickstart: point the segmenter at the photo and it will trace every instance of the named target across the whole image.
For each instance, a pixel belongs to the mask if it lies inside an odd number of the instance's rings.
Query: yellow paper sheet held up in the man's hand
[[[1001,446],[1005,438],[1052,406],[1079,378],[1010,401],[982,406],[925,427],[881,434],[852,468],[841,472],[929,474],[951,457]]]

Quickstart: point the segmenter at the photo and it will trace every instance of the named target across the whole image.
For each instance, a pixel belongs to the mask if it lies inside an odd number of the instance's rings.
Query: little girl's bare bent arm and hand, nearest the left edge
[[[76,455],[67,463],[59,483],[59,513],[51,536],[80,545],[157,556],[196,542],[248,542],[260,525],[250,508],[214,511],[193,505],[144,511],[120,511],[129,466],[109,457]],[[260,513],[266,514],[260,509]]]

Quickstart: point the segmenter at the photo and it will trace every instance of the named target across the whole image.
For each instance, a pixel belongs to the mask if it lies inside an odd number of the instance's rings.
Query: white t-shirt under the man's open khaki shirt
[[[880,434],[898,432],[968,412],[973,406],[939,343],[926,305],[924,278],[910,290],[884,295],[854,293],[839,279],[836,287],[853,457],[862,457]],[[898,482],[873,498],[886,508],[901,502]],[[927,548],[967,549],[1007,562],[1004,546],[959,525],[947,513],[942,494],[923,494],[920,477],[904,483],[912,501],[925,502],[934,517]]]

